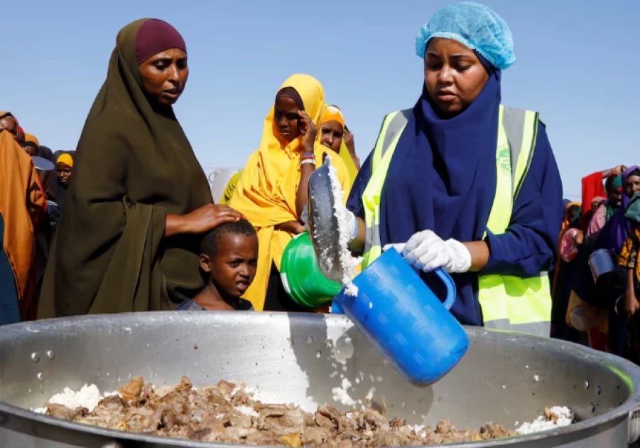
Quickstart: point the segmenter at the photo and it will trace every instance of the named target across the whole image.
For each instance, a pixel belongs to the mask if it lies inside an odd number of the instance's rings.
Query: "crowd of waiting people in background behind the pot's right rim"
[[[640,361],[640,167],[582,178],[582,202],[565,201],[553,271],[552,335]],[[573,230],[572,230],[573,229]],[[617,272],[595,280],[597,255]]]

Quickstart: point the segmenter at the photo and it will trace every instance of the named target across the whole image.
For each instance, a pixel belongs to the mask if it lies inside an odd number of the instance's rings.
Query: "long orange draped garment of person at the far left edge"
[[[20,300],[22,320],[36,319],[33,257],[34,227],[45,214],[45,198],[33,160],[9,132],[0,130],[0,213],[4,219],[6,253]]]

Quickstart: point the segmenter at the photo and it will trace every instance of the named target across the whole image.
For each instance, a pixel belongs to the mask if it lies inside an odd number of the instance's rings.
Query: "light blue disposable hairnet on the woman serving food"
[[[455,3],[435,13],[416,36],[416,54],[420,58],[425,57],[432,38],[458,41],[476,50],[500,70],[516,62],[509,26],[492,9],[479,3]]]

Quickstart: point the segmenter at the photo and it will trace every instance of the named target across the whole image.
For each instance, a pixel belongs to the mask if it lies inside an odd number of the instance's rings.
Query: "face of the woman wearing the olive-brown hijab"
[[[170,48],[145,60],[139,70],[149,101],[153,105],[174,105],[189,78],[187,53]]]

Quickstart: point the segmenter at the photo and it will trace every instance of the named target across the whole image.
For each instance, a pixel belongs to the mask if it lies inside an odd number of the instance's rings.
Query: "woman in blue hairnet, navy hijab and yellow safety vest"
[[[462,324],[548,336],[548,275],[563,216],[558,167],[538,114],[500,104],[511,31],[487,6],[453,4],[416,38],[425,83],[385,117],[354,183],[353,252],[394,245],[436,293],[452,274]]]

